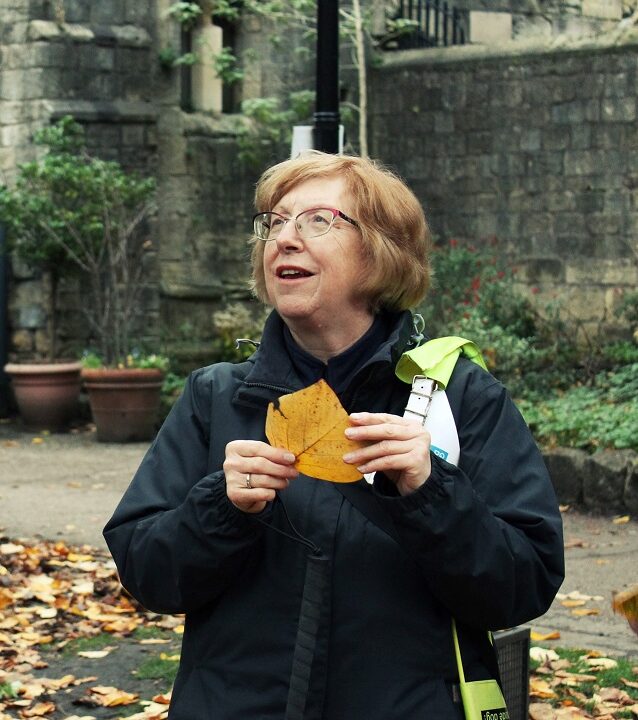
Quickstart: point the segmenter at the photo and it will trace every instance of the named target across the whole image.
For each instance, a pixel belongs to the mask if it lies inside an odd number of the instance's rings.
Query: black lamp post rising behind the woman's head
[[[339,0],[317,2],[315,150],[339,152]]]

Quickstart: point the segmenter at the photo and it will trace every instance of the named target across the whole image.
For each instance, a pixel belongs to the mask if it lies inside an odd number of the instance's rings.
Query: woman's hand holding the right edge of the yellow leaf
[[[418,422],[389,413],[352,413],[346,437],[364,443],[345,462],[361,473],[383,472],[401,495],[418,490],[430,477],[430,433]]]

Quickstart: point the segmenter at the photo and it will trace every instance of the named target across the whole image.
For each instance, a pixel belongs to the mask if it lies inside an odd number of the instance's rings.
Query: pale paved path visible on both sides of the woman
[[[98,443],[91,433],[38,435],[0,421],[0,535],[103,545],[102,527],[147,446]],[[614,524],[573,510],[563,518],[561,593],[580,593],[584,603],[567,608],[559,598],[531,627],[559,631],[550,645],[638,658],[638,636],[611,610],[612,591],[638,583],[638,519]],[[583,610],[597,614],[574,614]]]

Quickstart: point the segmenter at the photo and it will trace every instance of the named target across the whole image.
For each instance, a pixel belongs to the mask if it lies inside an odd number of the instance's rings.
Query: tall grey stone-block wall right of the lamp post
[[[496,236],[526,287],[591,331],[638,285],[637,49],[634,33],[412,50],[371,73],[371,152],[435,235]]]

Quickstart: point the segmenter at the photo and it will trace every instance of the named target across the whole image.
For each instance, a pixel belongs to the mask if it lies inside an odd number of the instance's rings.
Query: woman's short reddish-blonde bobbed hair
[[[271,210],[297,185],[341,178],[359,224],[364,268],[361,289],[373,311],[407,310],[430,286],[432,238],[421,203],[408,186],[379,162],[309,150],[264,172],[255,191],[257,212]],[[267,303],[264,242],[253,238],[252,289]]]

